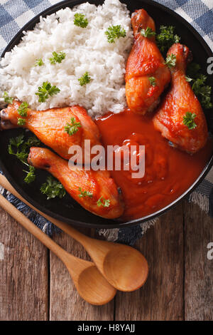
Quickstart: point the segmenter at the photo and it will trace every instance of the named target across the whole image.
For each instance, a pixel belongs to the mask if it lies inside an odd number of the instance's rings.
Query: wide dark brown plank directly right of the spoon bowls
[[[116,296],[116,320],[182,320],[182,205],[160,217],[136,244],[148,260],[146,284],[136,292]]]

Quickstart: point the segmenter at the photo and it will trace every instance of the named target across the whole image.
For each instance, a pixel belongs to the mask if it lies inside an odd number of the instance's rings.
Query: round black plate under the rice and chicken
[[[39,16],[47,16],[50,14],[55,13],[59,9],[64,9],[65,7],[75,6],[77,4],[82,4],[85,2],[82,1],[62,1],[60,4],[55,4],[50,8],[46,9],[39,15],[35,16],[31,21],[28,22],[23,29],[21,29],[16,36],[12,39],[9,45],[4,50],[11,51],[11,48],[18,44],[23,36],[23,31],[28,31],[33,29],[35,24],[39,21]],[[91,4],[103,4],[104,1],[89,1]],[[186,44],[194,55],[194,60],[197,63],[200,63],[202,66],[203,73],[206,73],[207,68],[207,58],[213,56],[212,51],[210,50],[207,43],[205,43],[204,39],[200,36],[197,31],[190,26],[190,24],[182,19],[181,16],[176,14],[175,12],[171,11],[167,7],[160,5],[151,0],[138,0],[138,1],[121,1],[127,4],[128,9],[133,12],[136,9],[146,9],[148,14],[150,14],[153,19],[155,20],[156,28],[159,29],[160,25],[173,25],[176,28],[176,32],[179,36],[181,36],[181,43]],[[2,53],[2,57],[4,56]],[[213,86],[213,78],[208,78],[209,85]],[[206,113],[208,125],[210,125],[209,113]],[[209,126],[209,129],[211,127]],[[200,174],[200,177],[195,180],[195,182],[191,185],[191,187],[177,200],[172,202],[167,207],[164,207],[162,210],[153,213],[152,215],[148,215],[138,220],[132,220],[129,222],[119,222],[117,220],[106,220],[102,219],[101,217],[97,217],[92,215],[91,213],[84,210],[75,200],[72,200],[71,197],[67,196],[63,200],[46,200],[44,195],[40,193],[40,185],[42,182],[45,181],[47,176],[45,171],[37,172],[37,179],[32,185],[27,185],[23,182],[23,165],[16,160],[16,158],[11,157],[7,153],[9,138],[18,135],[21,132],[20,129],[17,130],[8,130],[0,133],[0,155],[1,155],[1,169],[3,170],[4,174],[6,175],[11,185],[16,188],[16,190],[30,202],[32,205],[37,207],[42,212],[55,217],[58,220],[65,221],[72,225],[84,226],[84,227],[99,227],[99,228],[119,228],[119,227],[126,227],[131,225],[137,225],[141,222],[146,220],[151,220],[158,215],[163,214],[166,210],[174,207],[175,205],[180,202],[184,197],[186,197],[195,187],[204,179],[204,176],[207,175],[207,172],[210,170],[213,164],[213,155],[212,158],[209,160],[207,165],[205,166],[204,170]],[[213,153],[212,153],[213,154]]]

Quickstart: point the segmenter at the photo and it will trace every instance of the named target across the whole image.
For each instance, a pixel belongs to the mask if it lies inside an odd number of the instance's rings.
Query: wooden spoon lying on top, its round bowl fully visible
[[[138,250],[124,244],[92,239],[78,232],[65,222],[55,220],[53,217],[45,215],[45,213],[40,212],[40,210],[37,210],[33,205],[23,199],[3,175],[0,175],[0,185],[80,242],[87,250],[99,271],[102,272],[107,281],[116,289],[131,292],[139,289],[146,282],[148,277],[148,263],[146,258],[143,257]]]

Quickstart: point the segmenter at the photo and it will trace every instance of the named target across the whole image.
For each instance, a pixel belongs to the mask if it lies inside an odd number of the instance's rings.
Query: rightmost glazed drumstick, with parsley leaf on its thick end
[[[196,153],[207,142],[207,122],[197,97],[186,81],[185,71],[190,61],[190,50],[179,43],[173,44],[168,54],[176,56],[172,71],[172,85],[158,108],[153,123],[162,135],[187,153]],[[185,118],[193,115],[186,125]]]

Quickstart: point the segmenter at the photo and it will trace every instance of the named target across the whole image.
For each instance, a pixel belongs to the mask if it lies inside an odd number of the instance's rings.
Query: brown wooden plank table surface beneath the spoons
[[[89,259],[65,234],[53,238]],[[105,306],[83,301],[60,260],[1,209],[0,242],[0,320],[213,320],[213,225],[197,205],[182,202],[146,232],[136,243],[150,266],[146,284]]]

